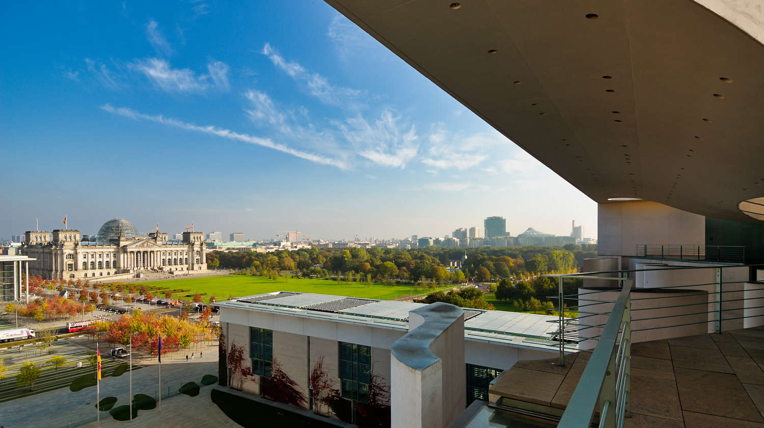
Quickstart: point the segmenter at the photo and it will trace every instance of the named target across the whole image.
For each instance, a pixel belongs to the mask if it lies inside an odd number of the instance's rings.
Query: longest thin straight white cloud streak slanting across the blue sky
[[[282,153],[291,154],[293,156],[296,156],[305,160],[310,160],[311,162],[316,162],[316,164],[331,165],[332,167],[338,167],[342,170],[348,169],[348,165],[344,164],[342,161],[338,161],[330,157],[325,157],[320,154],[312,154],[306,151],[290,148],[289,146],[286,146],[285,144],[275,143],[274,141],[270,140],[270,138],[254,137],[252,135],[241,134],[241,133],[231,131],[225,128],[217,128],[212,125],[206,125],[206,126],[194,125],[192,123],[182,122],[173,118],[167,118],[167,117],[164,117],[163,115],[147,115],[141,112],[137,112],[133,109],[128,109],[124,107],[115,108],[115,107],[112,107],[112,105],[108,105],[108,104],[102,105],[101,109],[115,115],[123,116],[125,118],[155,122],[160,125],[167,125],[174,128],[184,129],[186,131],[200,132],[207,135],[215,135],[221,138],[228,138],[229,140],[241,141],[248,144],[255,144],[265,148],[270,148],[276,151],[280,151]]]

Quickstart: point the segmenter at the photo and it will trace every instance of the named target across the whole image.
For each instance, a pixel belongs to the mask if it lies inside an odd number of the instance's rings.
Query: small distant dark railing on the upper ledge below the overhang
[[[742,245],[640,244],[634,245],[634,255],[649,258],[745,263],[746,247]]]

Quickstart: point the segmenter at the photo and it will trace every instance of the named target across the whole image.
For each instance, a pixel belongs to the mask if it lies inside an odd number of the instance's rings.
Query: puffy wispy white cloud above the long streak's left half
[[[131,63],[131,68],[143,73],[165,92],[202,92],[213,87],[228,90],[228,66],[220,61],[210,60],[207,64],[209,74],[196,74],[187,68],[173,68],[167,60],[160,58],[136,60]]]

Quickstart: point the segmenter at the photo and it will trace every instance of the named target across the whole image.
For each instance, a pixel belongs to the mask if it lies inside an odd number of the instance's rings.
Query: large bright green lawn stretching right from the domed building
[[[364,283],[338,283],[336,280],[279,278],[271,280],[267,277],[252,277],[246,275],[224,275],[219,277],[199,277],[178,280],[161,280],[138,283],[161,298],[166,291],[173,293],[173,298],[193,297],[202,295],[204,301],[210,296],[218,300],[233,297],[251,296],[252,294],[270,293],[273,291],[296,291],[299,293],[336,294],[338,296],[365,297],[368,299],[392,300],[404,294],[422,294],[428,290],[415,289],[413,285],[385,285]],[[448,287],[447,287],[448,288]]]

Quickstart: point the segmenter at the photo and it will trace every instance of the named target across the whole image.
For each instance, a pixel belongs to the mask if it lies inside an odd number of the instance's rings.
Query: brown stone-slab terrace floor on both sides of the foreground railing
[[[764,328],[632,345],[631,428],[764,428]],[[518,362],[491,394],[563,409],[588,361]]]

